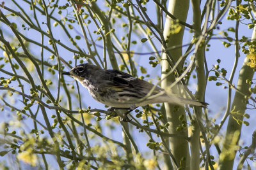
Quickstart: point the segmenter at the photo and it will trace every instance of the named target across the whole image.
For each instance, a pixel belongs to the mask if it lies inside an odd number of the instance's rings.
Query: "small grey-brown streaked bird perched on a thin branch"
[[[90,63],[63,72],[86,87],[96,101],[113,109],[128,109],[154,103],[191,104],[207,108],[208,103],[168,95],[164,89],[116,69],[102,69]],[[127,115],[127,114],[125,114]]]

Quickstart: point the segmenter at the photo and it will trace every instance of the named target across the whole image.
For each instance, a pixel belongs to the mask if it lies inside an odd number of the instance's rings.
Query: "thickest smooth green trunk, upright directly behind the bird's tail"
[[[179,20],[182,20],[186,22],[186,18],[188,15],[188,8],[189,8],[189,1],[180,1],[180,0],[174,0],[169,1],[168,4],[168,11],[172,13],[175,17],[177,17]],[[182,30],[178,34],[170,34],[170,27],[172,26],[172,18],[167,17],[166,22],[164,24],[164,39],[169,39],[168,47],[176,46],[176,45],[182,45],[182,39],[184,35],[184,26],[182,26]],[[167,36],[169,38],[167,38]],[[178,60],[179,57],[182,56],[182,48],[177,48],[175,50],[171,50],[170,53],[172,54],[172,57],[174,60]],[[166,76],[166,69],[170,70],[170,65],[167,62],[166,53],[163,53],[162,55],[162,78]],[[178,67],[178,69],[181,66]],[[165,80],[161,82],[161,87],[164,89],[168,86],[170,86],[173,81],[175,81],[174,75],[168,76]],[[174,87],[174,91],[177,87]],[[172,104],[164,103],[165,110],[166,110],[166,118],[169,126],[169,133],[173,134],[183,134],[184,136],[188,136],[188,131],[182,131],[177,132],[177,127],[180,126],[179,117],[180,115],[185,115],[184,109],[179,108],[178,111],[173,112],[174,106]],[[179,138],[169,138],[170,140],[170,150],[172,151],[175,159],[177,162],[179,162],[180,166],[182,168],[187,169],[188,168],[188,162],[189,162],[189,148],[188,148],[188,141],[186,139],[179,139]],[[182,158],[185,158],[185,160],[182,160]],[[181,161],[182,160],[182,161]]]

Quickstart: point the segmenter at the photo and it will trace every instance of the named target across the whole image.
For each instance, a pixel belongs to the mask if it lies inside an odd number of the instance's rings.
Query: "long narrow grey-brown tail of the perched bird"
[[[176,97],[176,96],[159,96],[154,99],[154,101],[157,101],[157,103],[173,103],[173,104],[179,104],[183,106],[184,104],[191,104],[194,106],[200,106],[202,108],[207,108],[208,103],[202,102],[202,101],[196,101],[193,99],[185,99],[182,97]]]

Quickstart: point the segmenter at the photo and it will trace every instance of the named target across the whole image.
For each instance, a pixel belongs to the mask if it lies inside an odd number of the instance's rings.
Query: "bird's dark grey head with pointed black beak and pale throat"
[[[96,70],[101,69],[98,66],[93,64],[80,64],[76,67],[73,67],[70,71],[62,73],[63,75],[72,76],[72,78],[77,81],[83,81],[84,79],[88,79],[89,76],[92,76]]]

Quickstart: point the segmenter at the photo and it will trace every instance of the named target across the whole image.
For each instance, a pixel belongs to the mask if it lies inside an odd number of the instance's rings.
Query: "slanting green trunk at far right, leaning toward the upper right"
[[[256,29],[253,29],[252,39],[256,38]],[[228,118],[227,132],[223,148],[220,155],[220,170],[232,169],[234,166],[234,159],[236,157],[237,146],[239,145],[239,139],[241,135],[241,128],[243,124],[238,124],[237,120],[243,121],[243,113],[246,110],[245,96],[250,96],[249,88],[250,84],[246,83],[247,79],[252,80],[254,71],[251,67],[247,66],[246,63],[250,60],[244,59],[243,67],[239,73],[239,79],[237,81],[237,90],[234,96],[234,100],[231,106],[230,116]],[[242,94],[241,94],[242,93]],[[237,114],[238,113],[238,114]],[[239,114],[241,113],[241,114]]]

